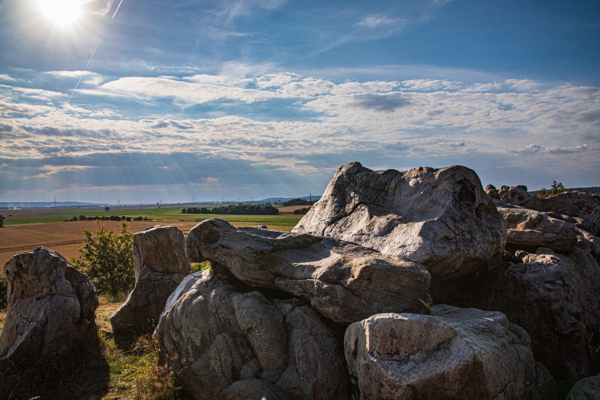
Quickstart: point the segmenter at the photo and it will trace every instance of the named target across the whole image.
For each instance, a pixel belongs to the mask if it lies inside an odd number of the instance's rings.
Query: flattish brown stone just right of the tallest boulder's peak
[[[506,248],[535,252],[538,247],[569,251],[577,244],[577,228],[569,222],[551,218],[525,208],[503,208],[498,211],[506,220]]]

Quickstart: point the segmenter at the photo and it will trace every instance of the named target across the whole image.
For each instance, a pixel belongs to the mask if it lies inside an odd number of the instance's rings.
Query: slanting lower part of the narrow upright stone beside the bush
[[[166,300],[184,278],[181,273],[154,272],[143,267],[127,300],[110,317],[115,336],[133,339],[152,333]]]

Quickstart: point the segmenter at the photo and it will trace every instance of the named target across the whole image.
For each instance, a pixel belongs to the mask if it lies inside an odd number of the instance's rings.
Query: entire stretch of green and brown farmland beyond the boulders
[[[139,232],[154,225],[175,225],[187,233],[198,222],[208,218],[221,218],[229,221],[236,227],[267,225],[269,229],[290,231],[298,223],[301,215],[282,213],[281,215],[216,215],[216,214],[184,214],[182,207],[119,207],[104,211],[104,207],[81,209],[22,209],[2,210],[0,213],[7,217],[4,228],[0,228],[0,266],[14,255],[23,251],[30,251],[37,246],[51,248],[64,257],[77,257],[80,246],[85,240],[82,230],[97,230],[94,221],[68,221],[73,216],[142,216],[152,221],[127,222],[128,230]],[[59,222],[65,221],[68,222]],[[114,229],[116,233],[121,229],[121,222],[100,221],[100,224]]]

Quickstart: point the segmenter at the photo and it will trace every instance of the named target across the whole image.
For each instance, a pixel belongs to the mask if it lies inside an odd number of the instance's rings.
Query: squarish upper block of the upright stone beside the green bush
[[[136,282],[147,266],[154,272],[190,273],[190,260],[185,257],[185,237],[174,226],[155,226],[133,235],[133,270]]]

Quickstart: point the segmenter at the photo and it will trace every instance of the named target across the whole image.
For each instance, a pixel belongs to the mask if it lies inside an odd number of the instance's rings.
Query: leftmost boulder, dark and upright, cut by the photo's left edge
[[[94,335],[94,284],[45,247],[15,255],[3,269],[8,308],[0,336],[0,367],[72,356]]]

